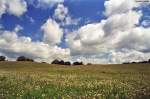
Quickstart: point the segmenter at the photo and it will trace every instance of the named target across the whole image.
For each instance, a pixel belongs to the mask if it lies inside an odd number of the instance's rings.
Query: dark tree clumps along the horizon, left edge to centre
[[[0,56],[0,61],[6,61],[5,56]],[[34,62],[33,59],[25,57],[25,56],[19,56],[16,61],[29,61],[29,62]],[[43,62],[44,63],[44,62]],[[57,65],[83,65],[83,62],[74,62],[71,63],[70,61],[63,61],[63,60],[53,60],[51,64],[57,64]]]

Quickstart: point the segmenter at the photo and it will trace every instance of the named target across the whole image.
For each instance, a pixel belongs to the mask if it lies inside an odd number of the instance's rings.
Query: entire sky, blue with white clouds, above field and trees
[[[95,64],[150,59],[150,1],[0,0],[0,55]]]

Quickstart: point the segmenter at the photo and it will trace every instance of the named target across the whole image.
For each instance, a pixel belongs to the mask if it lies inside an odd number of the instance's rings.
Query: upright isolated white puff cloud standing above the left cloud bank
[[[55,45],[61,42],[63,31],[54,20],[49,18],[41,29],[44,32],[43,41],[45,43]]]

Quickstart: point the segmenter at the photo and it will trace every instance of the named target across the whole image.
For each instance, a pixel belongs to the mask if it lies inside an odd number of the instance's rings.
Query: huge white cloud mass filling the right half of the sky
[[[94,63],[122,63],[147,59],[149,28],[138,26],[142,16],[134,0],[105,1],[107,19],[82,26],[66,37],[73,57]],[[88,57],[87,57],[88,55]]]

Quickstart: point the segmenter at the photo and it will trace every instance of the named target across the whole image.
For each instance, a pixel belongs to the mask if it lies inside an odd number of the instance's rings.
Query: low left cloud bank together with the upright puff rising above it
[[[54,31],[53,34],[48,31],[47,27]],[[13,31],[0,30],[0,55],[5,55],[9,59],[23,55],[46,62],[51,62],[54,59],[68,60],[70,50],[62,49],[56,45],[62,36],[58,24],[48,19],[41,28],[44,31],[42,42],[33,42],[30,37],[19,37],[17,33],[22,29],[21,26],[16,26]]]

